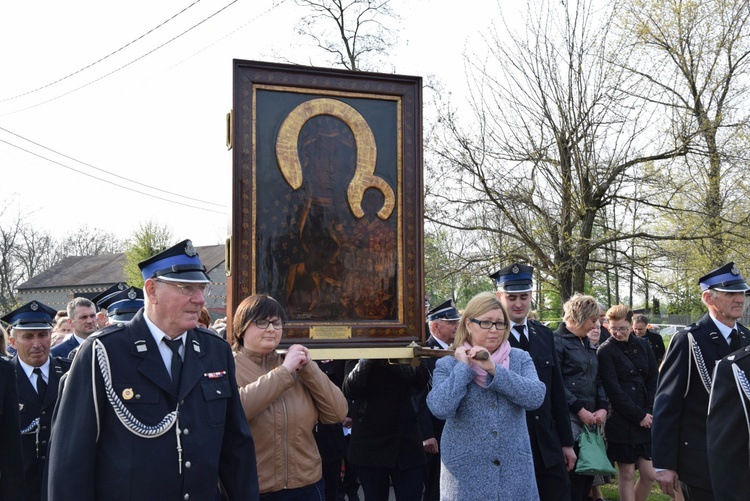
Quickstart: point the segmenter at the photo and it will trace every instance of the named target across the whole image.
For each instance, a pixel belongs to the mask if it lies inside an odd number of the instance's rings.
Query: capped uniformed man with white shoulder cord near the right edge
[[[652,452],[656,480],[665,493],[679,485],[686,501],[711,501],[706,452],[711,378],[717,360],[750,344],[750,331],[737,323],[750,287],[734,263],[698,282],[708,313],[676,333],[669,344],[656,388]]]

